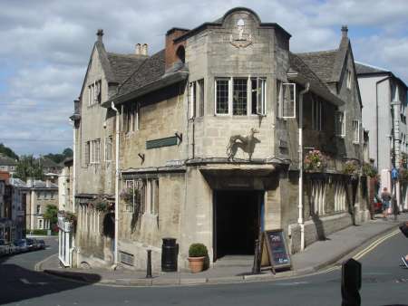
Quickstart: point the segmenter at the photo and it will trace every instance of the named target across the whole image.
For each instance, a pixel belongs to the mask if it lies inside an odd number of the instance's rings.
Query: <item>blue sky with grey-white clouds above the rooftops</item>
[[[0,143],[19,155],[72,147],[69,117],[97,29],[109,52],[148,43],[152,54],[170,28],[194,28],[235,6],[280,24],[292,52],[337,48],[347,24],[355,61],[408,83],[408,0],[1,0]]]

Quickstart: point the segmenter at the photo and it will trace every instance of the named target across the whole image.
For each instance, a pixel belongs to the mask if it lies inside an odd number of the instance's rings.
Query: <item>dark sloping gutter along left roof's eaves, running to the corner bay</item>
[[[151,81],[150,83],[142,86],[141,88],[138,88],[134,91],[128,92],[116,98],[113,97],[111,102],[106,101],[102,103],[102,107],[110,108],[112,107],[112,105],[121,105],[128,100],[139,98],[147,93],[150,93],[151,91],[158,91],[172,84],[187,80],[188,77],[189,77],[189,72],[172,72],[169,74],[164,74],[160,79]]]

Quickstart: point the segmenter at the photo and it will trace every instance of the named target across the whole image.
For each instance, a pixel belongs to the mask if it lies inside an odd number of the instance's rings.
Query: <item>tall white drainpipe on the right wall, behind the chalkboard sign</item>
[[[310,83],[299,93],[299,217],[297,223],[300,225],[300,251],[305,250],[305,220],[303,219],[303,96],[309,91]]]

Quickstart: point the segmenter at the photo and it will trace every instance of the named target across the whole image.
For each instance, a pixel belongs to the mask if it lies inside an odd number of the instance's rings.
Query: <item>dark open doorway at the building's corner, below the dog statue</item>
[[[214,192],[214,261],[229,254],[253,254],[259,231],[262,193]]]

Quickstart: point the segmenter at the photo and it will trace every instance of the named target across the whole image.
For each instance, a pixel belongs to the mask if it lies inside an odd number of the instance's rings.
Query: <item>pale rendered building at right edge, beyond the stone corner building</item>
[[[391,170],[406,168],[408,158],[407,85],[384,68],[356,63],[364,103],[364,129],[370,131],[370,158],[382,174],[382,186],[393,190]],[[396,184],[400,210],[408,209],[408,186]]]

